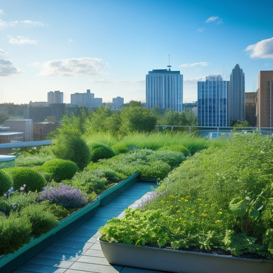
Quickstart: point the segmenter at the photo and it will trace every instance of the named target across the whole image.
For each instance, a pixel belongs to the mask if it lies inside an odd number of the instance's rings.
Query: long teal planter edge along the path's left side
[[[0,269],[5,272],[10,272],[26,261],[30,260],[41,250],[45,249],[57,239],[69,232],[70,229],[76,227],[87,218],[93,216],[99,206],[104,206],[127,190],[131,185],[138,181],[139,173],[122,180],[121,182],[108,188],[101,193],[94,202],[78,209],[78,211],[69,215],[67,218],[59,221],[58,226],[51,229],[48,233],[41,235],[39,238],[34,238],[28,244],[20,247],[14,253],[0,256]]]

